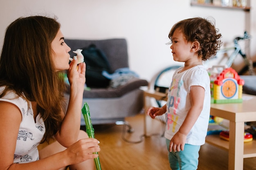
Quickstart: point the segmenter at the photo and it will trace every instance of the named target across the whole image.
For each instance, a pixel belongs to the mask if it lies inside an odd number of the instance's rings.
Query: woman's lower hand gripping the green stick
[[[97,158],[99,155],[93,152],[99,152],[99,141],[94,138],[81,139],[68,147],[63,152],[69,159],[69,165],[81,163],[88,159]]]

